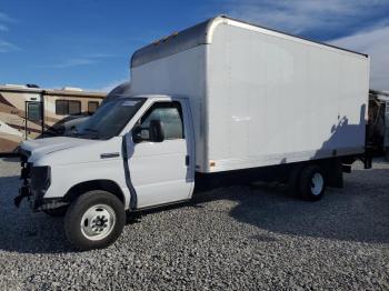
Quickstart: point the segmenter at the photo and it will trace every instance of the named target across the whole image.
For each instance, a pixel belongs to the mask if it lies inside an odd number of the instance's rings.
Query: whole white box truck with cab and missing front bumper
[[[277,180],[319,200],[355,160],[370,167],[368,91],[366,54],[216,17],[136,51],[131,94],[73,137],[24,142],[16,203],[64,215],[87,250],[194,188]]]

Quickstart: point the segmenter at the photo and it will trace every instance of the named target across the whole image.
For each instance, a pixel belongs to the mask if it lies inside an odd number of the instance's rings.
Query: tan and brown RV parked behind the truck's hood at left
[[[23,140],[63,134],[74,123],[70,120],[92,114],[104,96],[78,88],[0,86],[0,155],[14,152]]]

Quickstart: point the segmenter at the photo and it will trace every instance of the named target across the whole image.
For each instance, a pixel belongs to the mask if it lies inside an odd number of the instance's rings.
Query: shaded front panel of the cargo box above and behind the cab
[[[196,170],[203,171],[207,159],[205,141],[206,44],[131,68],[134,94],[188,97],[196,137]]]

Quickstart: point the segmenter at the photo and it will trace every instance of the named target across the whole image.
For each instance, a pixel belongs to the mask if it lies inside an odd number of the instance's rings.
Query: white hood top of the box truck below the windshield
[[[41,157],[56,151],[91,143],[94,140],[57,137],[24,141],[21,143],[20,148],[24,151],[31,152],[31,157],[37,154]]]

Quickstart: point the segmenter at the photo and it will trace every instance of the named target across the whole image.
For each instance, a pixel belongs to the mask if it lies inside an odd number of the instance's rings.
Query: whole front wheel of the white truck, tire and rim
[[[126,223],[122,202],[106,191],[90,191],[70,204],[64,233],[78,250],[102,249],[112,244]]]

